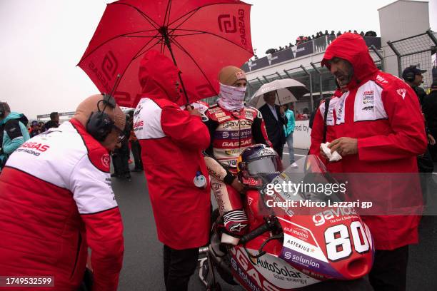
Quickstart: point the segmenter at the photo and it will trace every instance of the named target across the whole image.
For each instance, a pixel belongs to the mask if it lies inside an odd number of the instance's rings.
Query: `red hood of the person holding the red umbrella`
[[[151,99],[168,99],[174,103],[183,101],[183,98],[180,98],[181,94],[176,92],[178,73],[179,68],[174,66],[169,58],[158,51],[147,52],[139,68],[143,95]]]

